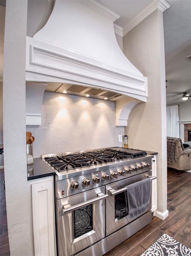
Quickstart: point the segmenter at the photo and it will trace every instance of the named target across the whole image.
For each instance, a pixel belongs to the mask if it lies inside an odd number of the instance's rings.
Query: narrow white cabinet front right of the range
[[[152,158],[152,176],[156,176],[156,156]],[[157,209],[157,179],[152,180],[152,206],[151,211],[155,211]]]

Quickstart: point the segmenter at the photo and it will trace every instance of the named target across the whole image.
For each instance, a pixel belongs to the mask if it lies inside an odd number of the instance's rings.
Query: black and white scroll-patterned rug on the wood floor
[[[191,249],[163,234],[140,256],[191,256]]]

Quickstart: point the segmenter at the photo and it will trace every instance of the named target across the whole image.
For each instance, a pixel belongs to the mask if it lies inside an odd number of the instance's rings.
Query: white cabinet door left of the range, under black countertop
[[[31,192],[35,256],[55,256],[53,180],[32,183]]]

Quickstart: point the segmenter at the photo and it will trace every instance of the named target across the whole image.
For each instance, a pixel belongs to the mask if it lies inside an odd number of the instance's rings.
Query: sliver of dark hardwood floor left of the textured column
[[[9,256],[9,238],[7,230],[7,212],[4,190],[4,170],[0,169],[0,255]]]

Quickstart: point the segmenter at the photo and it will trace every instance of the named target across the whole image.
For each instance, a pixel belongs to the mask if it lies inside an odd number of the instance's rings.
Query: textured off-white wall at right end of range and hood
[[[157,204],[167,203],[166,92],[162,12],[156,10],[124,37],[124,54],[148,78],[147,103],[137,105],[128,121],[129,146],[158,152]]]

